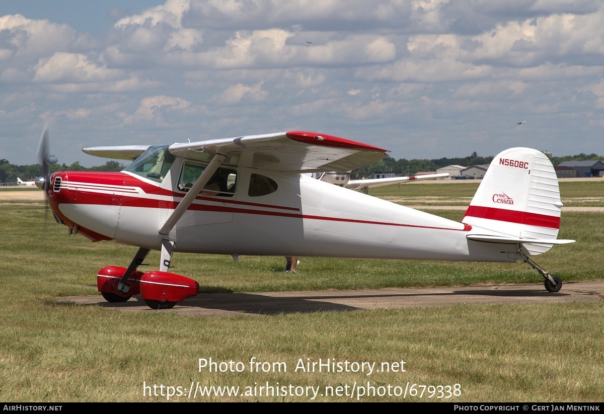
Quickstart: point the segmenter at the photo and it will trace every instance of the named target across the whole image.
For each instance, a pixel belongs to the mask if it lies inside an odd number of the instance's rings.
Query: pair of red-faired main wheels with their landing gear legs
[[[112,303],[126,302],[140,293],[147,306],[152,309],[170,309],[184,299],[199,293],[199,284],[193,279],[170,273],[170,257],[174,243],[162,241],[161,270],[140,272],[137,267],[143,263],[150,249],[141,247],[130,266],[106,266],[98,271],[97,288],[103,298]]]

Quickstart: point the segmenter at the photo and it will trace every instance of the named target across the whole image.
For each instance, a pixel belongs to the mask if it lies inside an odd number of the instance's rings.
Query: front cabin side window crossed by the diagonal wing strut
[[[181,178],[178,180],[178,189],[185,192],[189,191],[206,167],[206,165],[185,163],[182,167]],[[236,190],[237,171],[221,167],[208,180],[200,194],[202,196],[233,197]]]

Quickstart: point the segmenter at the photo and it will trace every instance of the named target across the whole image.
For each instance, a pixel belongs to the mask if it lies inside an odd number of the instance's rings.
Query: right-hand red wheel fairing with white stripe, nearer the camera
[[[199,283],[176,273],[153,270],[141,277],[141,297],[145,301],[180,302],[199,293]]]

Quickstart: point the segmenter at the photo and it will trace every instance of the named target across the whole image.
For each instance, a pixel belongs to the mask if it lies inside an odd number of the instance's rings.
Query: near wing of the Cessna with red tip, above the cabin
[[[175,156],[209,162],[215,154],[224,164],[274,171],[344,173],[388,156],[387,150],[314,132],[278,132],[170,145]]]

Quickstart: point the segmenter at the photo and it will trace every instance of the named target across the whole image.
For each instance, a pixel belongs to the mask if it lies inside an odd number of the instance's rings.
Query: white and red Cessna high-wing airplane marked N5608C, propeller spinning
[[[461,220],[448,220],[307,173],[345,173],[387,156],[372,145],[313,132],[280,132],[172,145],[89,147],[132,164],[119,173],[48,174],[47,133],[40,139],[43,188],[69,234],[138,246],[129,266],[103,267],[97,287],[109,302],[140,294],[149,307],[171,308],[199,284],[170,272],[175,252],[416,260],[523,260],[562,281],[529,255],[557,240],[562,203],[556,173],[541,152],[498,154]],[[50,162],[53,162],[50,161]],[[159,270],[137,267],[161,251]]]

